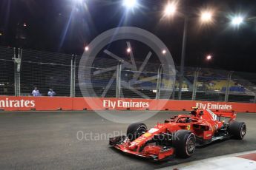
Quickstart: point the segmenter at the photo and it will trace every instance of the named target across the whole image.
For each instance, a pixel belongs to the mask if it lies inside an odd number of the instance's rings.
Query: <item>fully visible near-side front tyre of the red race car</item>
[[[178,130],[174,135],[174,148],[178,157],[190,157],[194,153],[196,137],[188,130]]]

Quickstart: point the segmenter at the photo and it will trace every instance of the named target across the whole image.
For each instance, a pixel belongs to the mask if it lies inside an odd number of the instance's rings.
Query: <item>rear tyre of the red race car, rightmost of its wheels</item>
[[[246,135],[246,123],[232,121],[229,123],[229,134],[233,135],[235,139],[242,140]]]

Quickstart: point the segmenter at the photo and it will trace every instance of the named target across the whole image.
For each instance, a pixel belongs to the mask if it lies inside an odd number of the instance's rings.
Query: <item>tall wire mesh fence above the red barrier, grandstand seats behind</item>
[[[13,58],[20,58],[20,70],[19,62]],[[51,88],[57,96],[82,97],[80,87],[90,84],[94,93],[84,97],[157,98],[157,93],[169,92],[171,97],[165,99],[178,98],[179,78],[182,76],[179,67],[176,68],[176,79],[170,81],[159,72],[161,64],[149,63],[145,69],[134,72],[118,69],[119,61],[96,58],[91,74],[86,75],[81,84],[78,74],[80,58],[79,55],[0,47],[0,95],[30,96],[36,86],[42,96],[47,96]],[[138,67],[141,64],[137,62]],[[134,75],[138,75],[136,80]],[[120,94],[116,95],[116,86],[119,86],[116,82],[119,81],[124,85],[119,87]],[[255,94],[256,73],[185,69],[182,100],[255,103]]]

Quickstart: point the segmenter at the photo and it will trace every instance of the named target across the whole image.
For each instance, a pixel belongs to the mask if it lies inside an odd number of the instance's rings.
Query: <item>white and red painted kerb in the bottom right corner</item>
[[[165,167],[161,170],[234,170],[256,169],[256,151],[227,154],[220,157],[211,157],[205,160],[197,160],[189,163],[181,163],[176,166]]]

